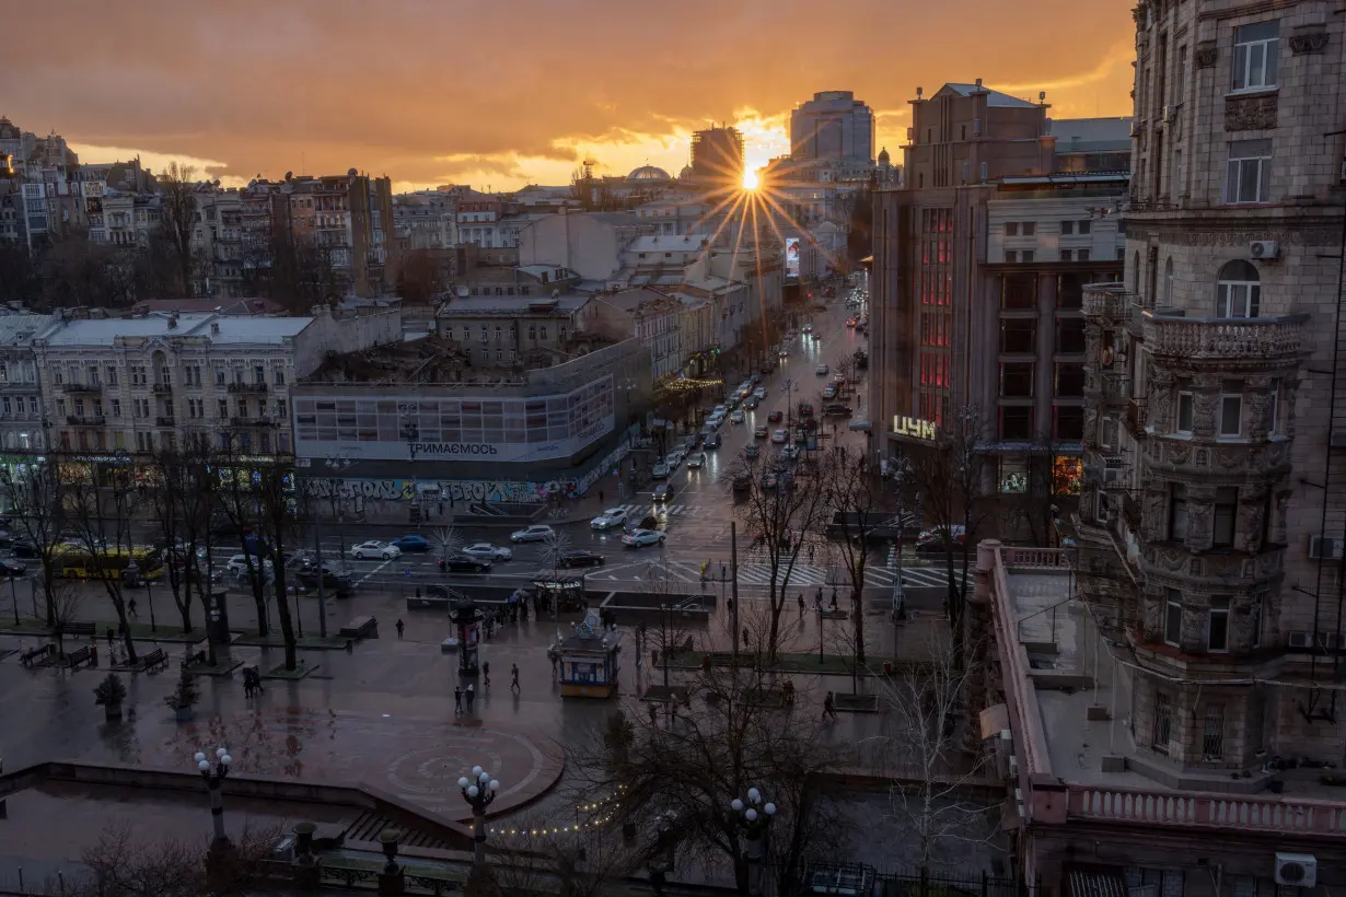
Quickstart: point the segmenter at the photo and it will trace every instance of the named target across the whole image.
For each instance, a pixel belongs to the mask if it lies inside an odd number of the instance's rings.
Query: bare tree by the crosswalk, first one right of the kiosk
[[[735,492],[735,514],[747,529],[750,545],[766,555],[771,611],[765,646],[769,663],[779,651],[781,615],[804,550],[804,537],[818,527],[826,511],[826,491],[818,477],[791,476],[787,469],[775,453],[763,459],[750,459],[744,453],[725,472],[731,483],[744,479],[748,483],[746,490]]]

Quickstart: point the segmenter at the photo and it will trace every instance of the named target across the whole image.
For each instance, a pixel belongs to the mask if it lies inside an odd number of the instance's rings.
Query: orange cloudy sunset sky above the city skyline
[[[677,173],[728,121],[748,163],[789,112],[855,90],[900,161],[915,87],[983,78],[1057,118],[1129,114],[1129,0],[44,0],[4,16],[0,114],[82,161],[226,182],[389,175],[397,190]]]

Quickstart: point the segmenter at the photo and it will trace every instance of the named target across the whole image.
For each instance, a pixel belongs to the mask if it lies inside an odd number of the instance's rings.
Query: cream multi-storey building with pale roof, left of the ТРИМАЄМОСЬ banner
[[[0,319],[3,320],[3,319]],[[289,386],[327,351],[401,339],[400,315],[61,316],[32,338],[47,444],[89,456],[188,442],[289,453]]]

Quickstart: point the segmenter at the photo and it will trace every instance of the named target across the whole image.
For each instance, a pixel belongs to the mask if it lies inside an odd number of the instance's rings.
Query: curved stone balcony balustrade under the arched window
[[[1145,312],[1145,348],[1152,355],[1194,360],[1275,359],[1306,351],[1308,315],[1284,317],[1175,317]]]

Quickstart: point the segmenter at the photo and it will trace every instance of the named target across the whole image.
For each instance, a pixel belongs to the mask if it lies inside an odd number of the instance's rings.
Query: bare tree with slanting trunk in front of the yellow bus
[[[122,459],[108,473],[110,485],[102,487],[93,464],[69,464],[70,479],[65,487],[63,506],[70,545],[86,558],[82,563],[98,577],[108,600],[117,612],[127,662],[136,663],[136,643],[131,633],[127,586],[132,578],[125,569],[133,559],[131,520],[136,512],[136,491],[131,483],[129,459]],[[55,561],[58,565],[61,559]]]

